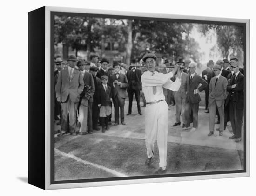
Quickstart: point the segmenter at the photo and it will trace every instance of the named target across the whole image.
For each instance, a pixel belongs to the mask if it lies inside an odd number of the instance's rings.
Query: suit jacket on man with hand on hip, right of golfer
[[[194,94],[194,90],[198,89],[199,92],[201,92],[202,90],[208,88],[208,84],[204,79],[202,79],[201,76],[197,75],[196,73],[191,81],[190,81],[190,76],[191,75],[189,74],[186,103],[188,103],[189,101],[191,101],[191,103],[199,103],[201,101],[201,97],[199,93]],[[199,84],[202,84],[202,86],[198,88]]]

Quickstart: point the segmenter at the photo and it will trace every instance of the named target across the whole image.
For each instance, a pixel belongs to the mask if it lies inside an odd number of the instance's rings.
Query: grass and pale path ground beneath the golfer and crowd
[[[153,175],[158,169],[158,149],[155,143],[153,164],[146,167],[144,109],[141,107],[142,115],[138,115],[134,102],[132,115],[125,116],[126,125],[112,125],[105,133],[54,137],[54,180]],[[125,114],[127,111],[128,101]],[[200,107],[198,130],[190,133],[172,126],[175,106],[169,110],[168,174],[243,169],[243,140],[235,143],[229,139],[230,123],[222,137],[218,132],[208,137],[209,114],[204,111]],[[55,132],[58,129],[60,126],[55,125]]]

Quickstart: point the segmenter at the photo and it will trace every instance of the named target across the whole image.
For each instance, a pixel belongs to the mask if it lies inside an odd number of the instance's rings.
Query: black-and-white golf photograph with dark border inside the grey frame
[[[51,12],[51,183],[246,172],[246,24]]]

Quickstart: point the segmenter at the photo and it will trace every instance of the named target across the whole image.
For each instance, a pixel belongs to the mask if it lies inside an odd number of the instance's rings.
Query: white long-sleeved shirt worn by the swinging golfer
[[[152,74],[150,71],[145,71],[141,76],[142,90],[145,94],[146,102],[164,100],[163,88],[172,91],[177,91],[180,88],[181,78],[177,78],[175,82],[171,81],[172,72],[163,74],[155,71]],[[153,94],[153,86],[156,86],[155,94]]]

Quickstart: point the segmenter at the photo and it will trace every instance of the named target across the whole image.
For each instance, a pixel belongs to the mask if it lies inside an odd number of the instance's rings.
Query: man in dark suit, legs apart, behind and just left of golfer
[[[127,92],[129,97],[129,107],[127,115],[130,115],[132,113],[133,95],[135,95],[135,99],[137,102],[138,114],[141,115],[141,75],[141,70],[136,69],[135,65],[131,65],[126,73],[126,77],[128,80]]]

